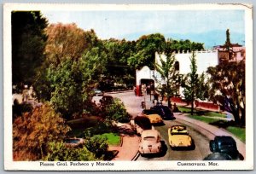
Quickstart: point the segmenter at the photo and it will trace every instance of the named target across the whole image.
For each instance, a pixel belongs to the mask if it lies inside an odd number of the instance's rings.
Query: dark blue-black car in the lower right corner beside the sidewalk
[[[212,153],[228,154],[232,159],[241,159],[236,141],[231,136],[215,136],[209,145]]]

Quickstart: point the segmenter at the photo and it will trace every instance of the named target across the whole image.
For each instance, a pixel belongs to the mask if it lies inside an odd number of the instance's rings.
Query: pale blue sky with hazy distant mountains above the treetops
[[[230,29],[232,43],[244,44],[244,10],[41,11],[49,23],[76,23],[93,29],[102,39],[137,40],[161,33],[165,38],[190,39],[206,47],[224,44]]]

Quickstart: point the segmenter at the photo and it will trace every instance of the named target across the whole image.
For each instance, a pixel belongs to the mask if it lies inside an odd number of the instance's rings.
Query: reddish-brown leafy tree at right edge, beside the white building
[[[232,113],[237,125],[245,125],[245,62],[222,61],[216,67],[208,67],[207,73],[210,99]]]

